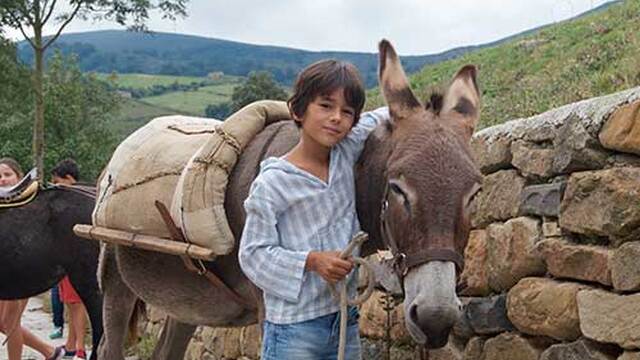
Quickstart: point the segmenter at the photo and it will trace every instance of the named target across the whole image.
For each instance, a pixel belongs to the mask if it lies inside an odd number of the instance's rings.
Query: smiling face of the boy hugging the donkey
[[[319,95],[307,106],[307,110],[296,121],[302,124],[303,136],[321,146],[331,148],[339,143],[351,130],[355,110],[344,98],[344,89]]]

